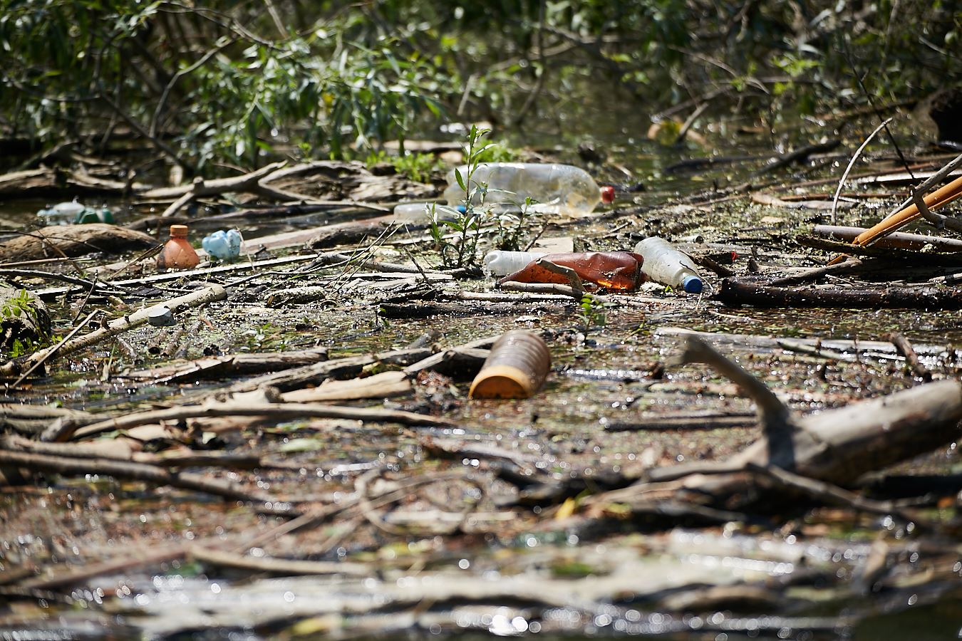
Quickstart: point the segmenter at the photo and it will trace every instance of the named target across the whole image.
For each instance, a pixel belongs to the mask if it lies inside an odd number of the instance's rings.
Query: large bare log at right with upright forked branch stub
[[[787,483],[813,498],[839,498],[847,491],[837,484],[853,483],[867,473],[930,452],[960,433],[962,383],[957,381],[930,382],[797,416],[762,382],[700,338],[688,336],[676,362],[710,364],[738,384],[755,401],[763,436],[728,460],[655,468],[627,487],[589,497],[585,505],[604,509],[617,503],[628,505],[636,515],[664,515],[667,505],[677,509],[680,503],[694,506],[694,512],[686,513],[730,518],[726,510],[759,505],[766,498],[759,476],[775,479],[782,490]],[[716,514],[713,509],[721,511]]]

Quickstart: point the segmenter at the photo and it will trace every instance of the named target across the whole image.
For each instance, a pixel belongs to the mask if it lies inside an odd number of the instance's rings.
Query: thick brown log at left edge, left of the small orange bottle
[[[116,225],[53,225],[0,242],[0,262],[74,257],[91,252],[122,254],[157,244],[156,238]]]

